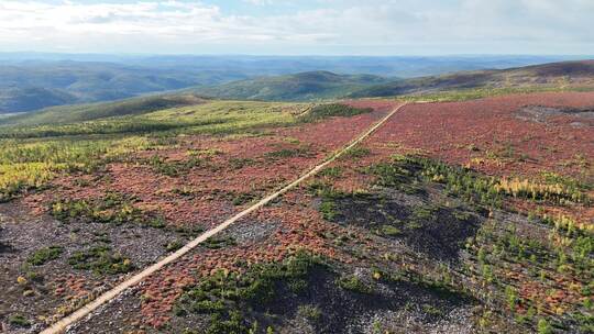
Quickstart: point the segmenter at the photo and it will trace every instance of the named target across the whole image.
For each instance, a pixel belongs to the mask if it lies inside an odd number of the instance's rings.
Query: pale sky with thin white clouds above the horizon
[[[0,52],[594,55],[594,0],[0,0]]]

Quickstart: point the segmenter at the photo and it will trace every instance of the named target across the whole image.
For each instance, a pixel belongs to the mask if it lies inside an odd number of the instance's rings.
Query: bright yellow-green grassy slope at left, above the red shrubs
[[[299,108],[289,103],[212,101],[63,124],[6,125],[0,126],[0,138],[155,134],[165,131],[184,134],[237,133],[263,125],[290,123],[294,121],[292,114],[299,112]]]

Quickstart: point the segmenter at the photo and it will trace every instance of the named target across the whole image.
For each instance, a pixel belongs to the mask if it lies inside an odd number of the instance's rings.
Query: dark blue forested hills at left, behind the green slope
[[[111,63],[31,63],[0,66],[0,114],[92,103],[243,79],[229,71],[158,69]]]

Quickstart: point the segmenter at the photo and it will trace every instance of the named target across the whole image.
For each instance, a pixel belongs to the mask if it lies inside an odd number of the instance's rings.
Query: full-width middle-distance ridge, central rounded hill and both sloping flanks
[[[562,62],[496,70],[473,70],[410,79],[373,75],[338,75],[307,71],[193,87],[113,102],[56,105],[34,112],[0,118],[0,125],[67,124],[97,119],[135,115],[160,109],[191,105],[206,99],[319,101],[340,98],[397,97],[418,93],[470,91],[474,89],[517,90],[594,87],[594,60]]]

